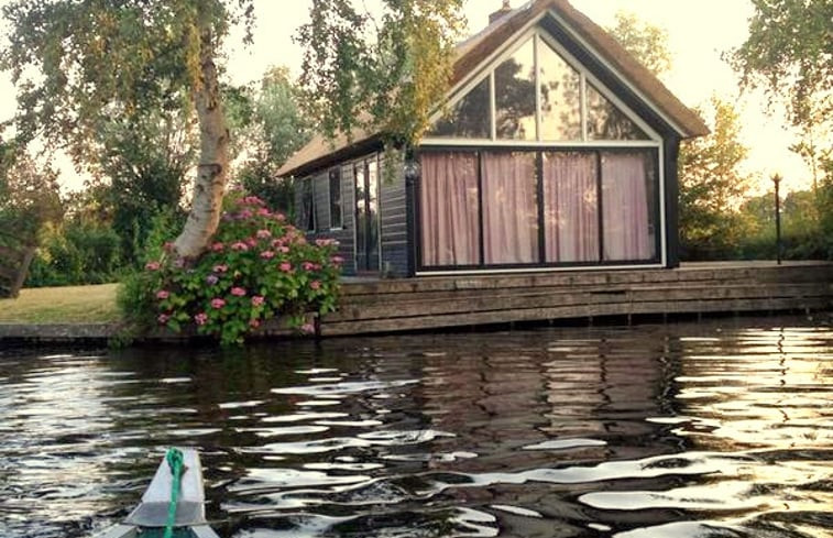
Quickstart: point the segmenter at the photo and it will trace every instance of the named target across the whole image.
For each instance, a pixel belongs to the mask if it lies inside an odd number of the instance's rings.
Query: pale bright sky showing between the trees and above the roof
[[[288,66],[300,70],[303,51],[292,36],[308,20],[311,0],[253,0],[254,43],[242,45],[240,34],[227,40],[228,72],[233,83],[257,80],[270,66]],[[512,0],[512,7],[525,0]],[[9,0],[0,0],[0,6]],[[486,25],[489,13],[502,0],[467,0],[464,12],[471,33]],[[779,112],[765,113],[760,94],[738,96],[736,75],[722,61],[725,51],[739,46],[748,34],[753,8],[749,0],[571,0],[573,7],[602,26],[614,24],[614,15],[624,10],[668,32],[672,69],[664,77],[668,88],[689,107],[705,103],[712,95],[733,102],[741,114],[742,139],[749,147],[745,169],[757,183],[757,191],[770,187],[768,177],[778,172],[789,190],[810,185],[809,171],[788,146],[796,135],[783,128]],[[1,29],[0,29],[1,30]],[[8,75],[0,73],[0,121],[14,113],[14,88]],[[83,179],[62,166],[65,189],[79,188]]]

